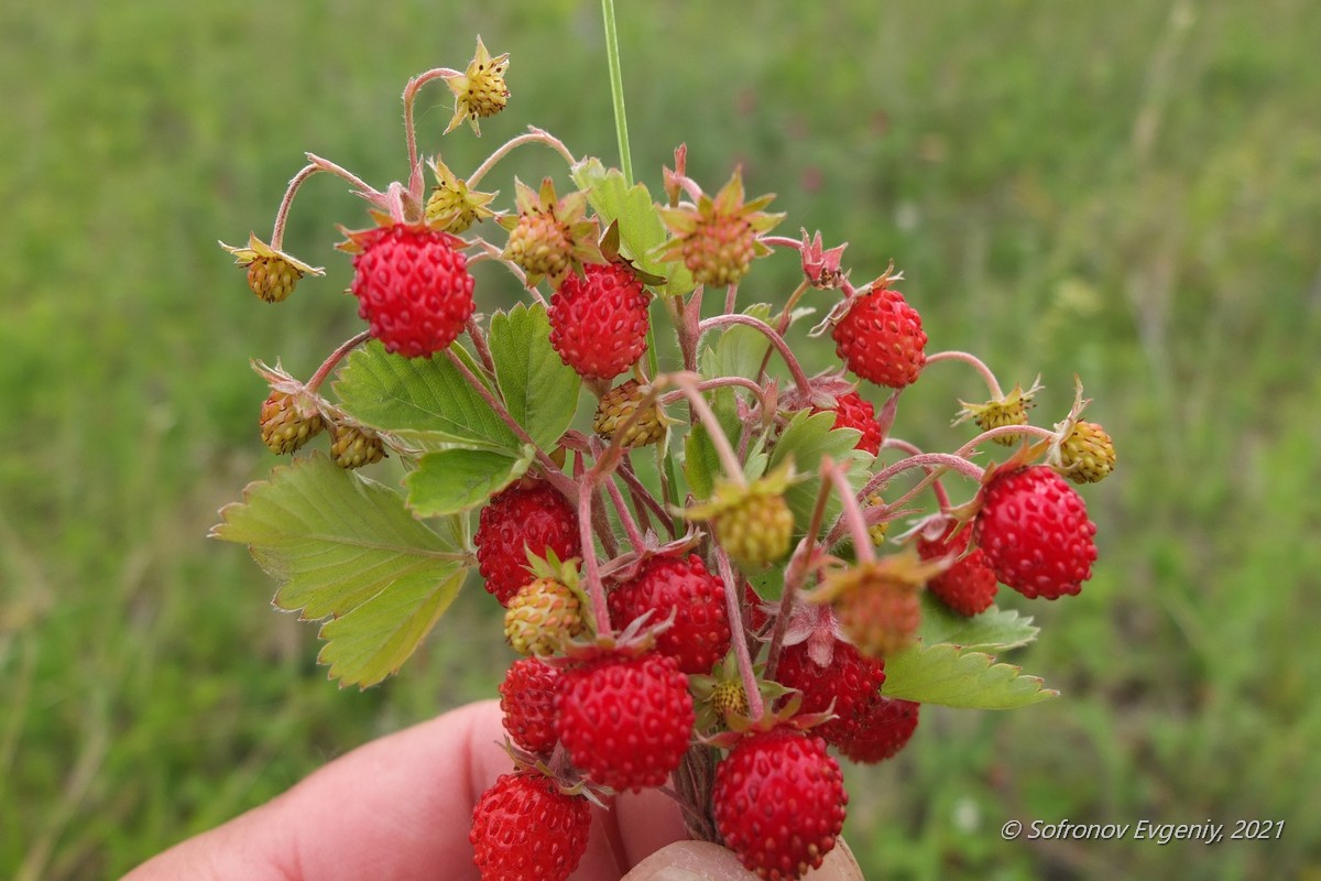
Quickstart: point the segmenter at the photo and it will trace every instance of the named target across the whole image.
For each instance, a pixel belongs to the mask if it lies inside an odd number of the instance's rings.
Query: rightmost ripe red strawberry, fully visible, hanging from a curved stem
[[[996,473],[974,522],[995,577],[1025,597],[1078,593],[1096,559],[1082,497],[1045,465]]]

